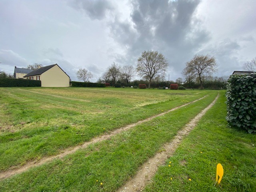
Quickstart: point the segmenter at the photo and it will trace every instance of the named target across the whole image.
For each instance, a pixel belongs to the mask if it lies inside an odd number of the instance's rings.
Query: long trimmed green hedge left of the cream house
[[[0,78],[0,87],[40,87],[41,81],[30,79]]]

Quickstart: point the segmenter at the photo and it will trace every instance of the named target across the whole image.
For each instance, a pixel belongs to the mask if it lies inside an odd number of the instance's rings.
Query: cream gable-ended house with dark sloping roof
[[[69,87],[70,77],[54,64],[33,70],[24,79],[41,80],[42,87]]]

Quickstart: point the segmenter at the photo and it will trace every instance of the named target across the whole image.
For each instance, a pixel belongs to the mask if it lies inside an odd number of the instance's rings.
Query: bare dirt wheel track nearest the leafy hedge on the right
[[[164,151],[157,153],[154,157],[150,158],[147,162],[145,162],[138,170],[137,174],[122,188],[118,190],[118,192],[137,192],[142,191],[144,187],[150,183],[151,178],[156,174],[158,166],[163,165],[166,160],[172,156],[175,150],[178,148],[182,139],[189,134],[189,132],[196,126],[200,118],[215,104],[218,96],[214,99],[214,101],[202,110],[194,119],[192,119],[186,127],[180,131],[178,131],[176,137],[172,140],[172,142],[164,145]]]

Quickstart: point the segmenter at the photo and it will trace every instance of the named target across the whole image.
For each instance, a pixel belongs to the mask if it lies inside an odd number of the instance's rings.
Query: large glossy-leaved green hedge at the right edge
[[[249,133],[256,132],[256,74],[230,76],[226,97],[226,120]]]

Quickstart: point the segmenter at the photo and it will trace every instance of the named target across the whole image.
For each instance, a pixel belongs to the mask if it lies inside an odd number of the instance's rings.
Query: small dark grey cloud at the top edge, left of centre
[[[109,11],[114,10],[112,3],[107,0],[75,0],[72,6],[83,10],[92,20],[102,20]]]

